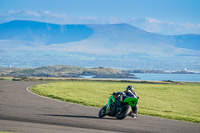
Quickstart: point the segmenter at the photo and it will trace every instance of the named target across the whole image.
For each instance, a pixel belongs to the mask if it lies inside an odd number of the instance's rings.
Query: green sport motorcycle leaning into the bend
[[[136,112],[139,97],[125,97],[122,92],[111,94],[108,104],[99,111],[99,117],[103,118],[108,115],[117,119],[124,119],[127,116],[133,117]],[[137,114],[136,114],[137,115]]]

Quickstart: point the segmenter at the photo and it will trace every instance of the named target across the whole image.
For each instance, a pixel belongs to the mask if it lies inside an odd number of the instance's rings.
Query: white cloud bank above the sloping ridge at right
[[[149,17],[144,19],[132,18],[129,21],[127,20],[127,22],[146,31],[165,35],[200,34],[200,24],[194,23],[174,23]]]

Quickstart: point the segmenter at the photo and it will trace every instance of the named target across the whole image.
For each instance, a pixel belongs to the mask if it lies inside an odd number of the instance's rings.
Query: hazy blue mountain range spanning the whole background
[[[161,35],[129,24],[0,24],[0,67],[75,65],[200,70],[200,35]]]

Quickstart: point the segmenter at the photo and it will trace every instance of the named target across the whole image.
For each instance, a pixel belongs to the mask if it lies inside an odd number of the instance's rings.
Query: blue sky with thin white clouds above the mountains
[[[200,0],[0,0],[0,23],[127,23],[165,35],[200,34]]]

